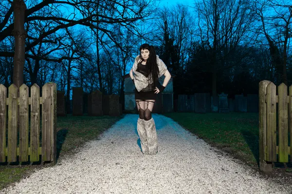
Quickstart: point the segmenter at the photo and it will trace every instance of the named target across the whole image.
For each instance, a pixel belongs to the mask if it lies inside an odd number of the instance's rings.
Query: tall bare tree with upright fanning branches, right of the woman
[[[246,41],[247,30],[253,22],[247,1],[202,0],[197,1],[199,36],[203,48],[209,50],[212,73],[212,96],[217,97],[217,75],[222,69],[235,65],[219,65],[234,54],[237,46]]]

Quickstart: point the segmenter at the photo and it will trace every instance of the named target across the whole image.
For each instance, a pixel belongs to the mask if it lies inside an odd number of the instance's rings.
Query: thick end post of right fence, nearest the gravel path
[[[267,145],[267,107],[265,103],[265,96],[267,94],[267,85],[271,81],[260,81],[259,82],[259,169],[263,172],[272,171],[272,163],[266,162],[265,147]]]

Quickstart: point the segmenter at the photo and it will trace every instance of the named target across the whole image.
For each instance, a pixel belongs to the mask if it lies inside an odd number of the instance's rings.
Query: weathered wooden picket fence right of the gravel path
[[[259,83],[259,162],[260,170],[272,171],[272,162],[292,162],[292,85],[271,81]],[[278,105],[278,109],[276,109]],[[278,122],[277,122],[278,121]],[[278,123],[278,125],[277,125]],[[290,131],[290,146],[289,146]],[[277,141],[278,140],[278,141]],[[277,160],[278,155],[278,160]]]

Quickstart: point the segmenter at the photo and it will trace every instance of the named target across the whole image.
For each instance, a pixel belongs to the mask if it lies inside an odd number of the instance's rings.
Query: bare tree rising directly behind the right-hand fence
[[[276,83],[287,80],[287,56],[292,37],[292,5],[290,0],[256,0],[253,5],[260,25],[257,32],[268,42]],[[265,44],[266,41],[262,41]]]

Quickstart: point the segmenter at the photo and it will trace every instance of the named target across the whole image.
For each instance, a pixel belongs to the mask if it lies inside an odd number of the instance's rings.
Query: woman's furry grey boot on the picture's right
[[[145,122],[149,154],[155,155],[157,154],[157,151],[158,151],[158,140],[157,140],[157,133],[156,133],[154,119],[151,118],[150,120],[144,121],[144,122]]]

